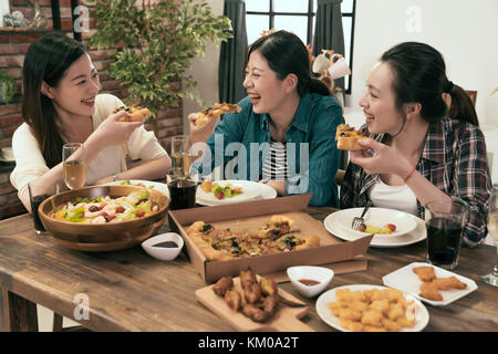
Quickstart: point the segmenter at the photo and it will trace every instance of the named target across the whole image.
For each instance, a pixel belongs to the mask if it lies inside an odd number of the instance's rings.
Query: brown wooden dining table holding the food
[[[308,207],[305,211],[323,221],[336,210]],[[160,231],[167,230],[166,220]],[[382,285],[382,277],[424,262],[425,254],[425,241],[370,247],[366,271],[336,274],[328,288]],[[426,304],[425,331],[498,331],[498,289],[479,278],[496,261],[494,247],[463,247],[455,272],[473,279],[478,289],[446,306]],[[30,215],[0,221],[0,331],[38,331],[35,304],[91,331],[234,331],[196,300],[196,290],[206,283],[185,249],[169,262],[151,258],[139,246],[112,252],[74,251],[59,246],[49,233],[37,235]],[[335,331],[318,315],[317,298],[301,296],[289,282],[279,287],[308,305],[301,321],[315,331]]]

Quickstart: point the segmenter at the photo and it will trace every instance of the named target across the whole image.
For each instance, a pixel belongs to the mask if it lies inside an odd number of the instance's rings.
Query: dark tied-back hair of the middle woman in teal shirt
[[[258,51],[267,61],[279,80],[289,74],[298,76],[298,94],[307,93],[330,95],[329,88],[320,80],[311,77],[310,58],[304,43],[293,33],[277,31],[261,37],[249,46],[246,66],[252,52]]]

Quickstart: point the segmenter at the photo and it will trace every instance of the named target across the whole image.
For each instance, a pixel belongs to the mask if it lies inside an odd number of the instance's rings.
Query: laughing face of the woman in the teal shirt
[[[276,72],[258,51],[249,56],[243,87],[251,98],[252,111],[270,115],[282,106],[289,91],[286,80],[277,77]]]

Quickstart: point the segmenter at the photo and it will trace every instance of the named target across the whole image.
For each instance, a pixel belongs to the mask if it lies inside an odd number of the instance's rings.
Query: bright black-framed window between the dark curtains
[[[343,0],[341,3],[342,25],[344,30],[344,55],[352,67],[354,10],[356,0]],[[255,42],[262,31],[269,29],[287,30],[295,33],[305,44],[311,44],[314,31],[317,0],[246,0],[246,24],[249,44]],[[351,75],[344,77],[345,93],[351,93]]]

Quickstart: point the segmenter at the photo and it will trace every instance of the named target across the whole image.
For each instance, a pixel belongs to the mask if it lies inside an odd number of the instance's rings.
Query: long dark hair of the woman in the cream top
[[[63,140],[55,125],[52,100],[41,93],[41,85],[44,81],[56,87],[68,69],[84,53],[80,42],[64,33],[50,32],[32,43],[24,58],[22,115],[33,131],[49,168],[62,160]]]

